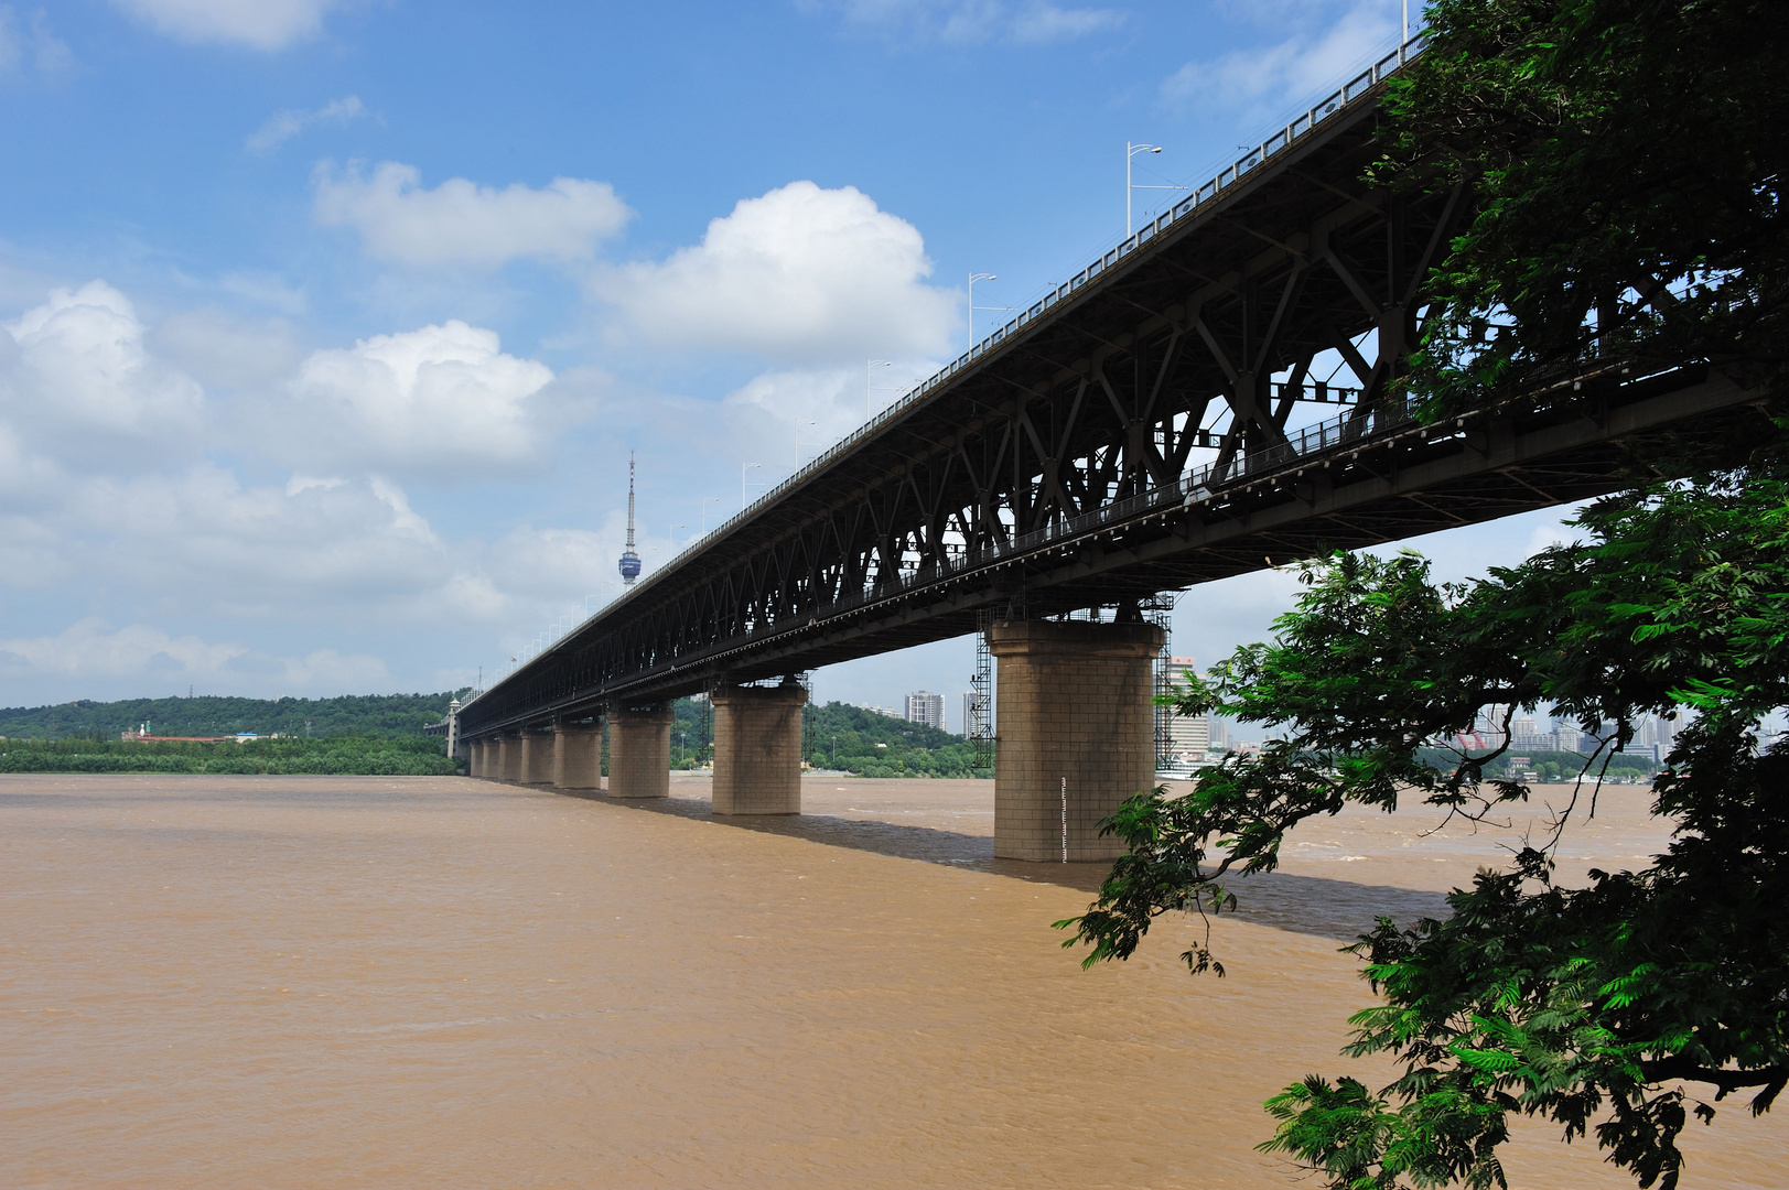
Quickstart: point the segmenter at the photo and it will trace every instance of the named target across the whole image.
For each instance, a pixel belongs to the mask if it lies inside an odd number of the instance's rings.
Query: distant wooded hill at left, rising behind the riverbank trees
[[[447,714],[445,694],[342,694],[340,698],[127,698],[55,707],[0,707],[0,737],[116,739],[148,723],[150,735],[420,735]]]

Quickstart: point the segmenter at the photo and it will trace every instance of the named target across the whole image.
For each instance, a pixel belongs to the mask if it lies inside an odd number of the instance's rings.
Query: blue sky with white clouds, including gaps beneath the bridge
[[[1397,0],[0,5],[0,703],[445,689],[1392,43]],[[1172,191],[1138,191],[1138,209]],[[998,315],[980,315],[995,319]],[[866,360],[893,360],[868,369]],[[1429,542],[1467,573],[1535,515]],[[1181,599],[1209,660],[1285,574]],[[968,642],[821,698],[946,694]]]

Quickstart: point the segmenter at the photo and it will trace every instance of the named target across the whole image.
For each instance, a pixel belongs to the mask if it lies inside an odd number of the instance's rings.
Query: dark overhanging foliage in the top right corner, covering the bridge
[[[1435,0],[1392,186],[1463,183],[1413,390],[1442,413],[1596,356],[1789,369],[1789,4]]]

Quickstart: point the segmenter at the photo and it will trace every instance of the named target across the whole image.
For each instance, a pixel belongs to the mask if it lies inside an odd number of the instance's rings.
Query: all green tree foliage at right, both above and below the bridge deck
[[[1551,852],[1574,803],[1444,920],[1381,920],[1356,952],[1385,1002],[1352,1020],[1347,1052],[1390,1054],[1403,1075],[1311,1075],[1268,1101],[1263,1145],[1338,1188],[1494,1186],[1521,1113],[1594,1133],[1642,1186],[1669,1188],[1694,1117],[1730,1093],[1766,1111],[1789,1083],[1789,752],[1759,750],[1789,703],[1789,5],[1438,0],[1428,21],[1374,170],[1472,193],[1406,374],[1428,415],[1589,358],[1701,365],[1757,390],[1760,415],[1635,460],[1633,490],[1580,515],[1583,544],[1521,567],[1438,585],[1413,555],[1308,565],[1276,639],[1181,700],[1285,741],[1204,769],[1188,796],[1127,802],[1109,827],[1131,852],[1061,925],[1088,963],[1123,959],[1161,913],[1231,909],[1233,877],[1272,870],[1306,818],[1526,798],[1497,777],[1506,755],[1424,746],[1490,709],[1612,725],[1592,771],[1639,716],[1692,710],[1655,782],[1669,850],[1560,888]],[[1660,474],[1691,478],[1642,483]],[[1222,973],[1208,943],[1184,959]]]

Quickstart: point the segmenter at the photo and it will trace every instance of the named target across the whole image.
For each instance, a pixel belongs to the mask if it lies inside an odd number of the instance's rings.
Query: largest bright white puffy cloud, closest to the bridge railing
[[[803,181],[741,200],[664,263],[599,270],[594,288],[648,344],[841,360],[943,353],[959,301],[930,274],[912,224]]]

